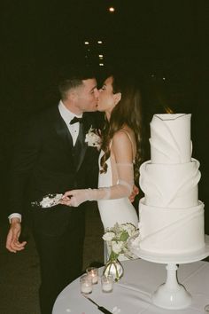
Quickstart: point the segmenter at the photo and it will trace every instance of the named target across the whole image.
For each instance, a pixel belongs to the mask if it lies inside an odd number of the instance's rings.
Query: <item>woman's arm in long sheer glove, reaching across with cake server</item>
[[[128,135],[117,132],[112,139],[111,149],[116,161],[118,183],[99,189],[68,191],[64,194],[62,204],[76,207],[86,200],[120,199],[131,194],[134,185],[133,147]]]

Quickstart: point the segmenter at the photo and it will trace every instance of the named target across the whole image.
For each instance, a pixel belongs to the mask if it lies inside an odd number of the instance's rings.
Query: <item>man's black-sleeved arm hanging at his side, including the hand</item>
[[[40,138],[32,123],[22,132],[15,145],[10,171],[9,186],[9,220],[10,229],[6,239],[6,248],[16,253],[24,249],[26,241],[19,242],[21,233],[21,214],[26,199],[27,183],[31,170],[35,166]]]

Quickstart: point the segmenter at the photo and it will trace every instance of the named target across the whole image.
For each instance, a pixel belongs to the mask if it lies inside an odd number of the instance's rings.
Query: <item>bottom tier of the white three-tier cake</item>
[[[192,208],[157,208],[139,203],[141,249],[158,254],[186,254],[205,246],[204,204]]]

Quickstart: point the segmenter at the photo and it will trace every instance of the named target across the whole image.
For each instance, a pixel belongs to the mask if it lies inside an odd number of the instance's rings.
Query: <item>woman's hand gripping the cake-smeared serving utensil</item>
[[[65,192],[60,204],[78,207],[86,200],[89,200],[89,190],[73,190]]]

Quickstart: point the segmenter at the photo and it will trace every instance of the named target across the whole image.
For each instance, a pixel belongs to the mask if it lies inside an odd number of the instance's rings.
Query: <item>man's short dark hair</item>
[[[61,98],[66,98],[68,90],[77,88],[83,84],[83,80],[96,78],[96,72],[92,67],[79,66],[66,68],[62,73],[62,80],[58,84],[58,90]]]

